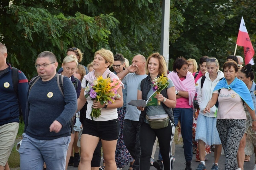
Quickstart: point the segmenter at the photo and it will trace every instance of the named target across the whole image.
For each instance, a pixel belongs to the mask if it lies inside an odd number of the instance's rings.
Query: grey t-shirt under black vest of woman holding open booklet
[[[174,86],[173,82],[172,82],[170,79],[168,79],[168,82],[169,82],[169,85],[168,85],[167,89]],[[141,84],[141,82],[140,82],[139,85],[138,85],[138,90],[141,91],[140,84]],[[147,100],[153,93],[154,93],[153,89],[150,88],[150,91],[148,91],[148,93],[147,93],[147,98],[146,98],[146,100]],[[167,114],[167,113],[165,112],[165,109],[164,109],[163,106],[162,106],[162,102],[161,102],[161,105],[158,105],[158,106],[147,106],[147,110],[146,110],[146,115],[147,115],[147,116],[156,116],[156,115],[165,115],[165,114]],[[148,123],[148,121],[147,121],[146,119],[144,120],[144,122]]]

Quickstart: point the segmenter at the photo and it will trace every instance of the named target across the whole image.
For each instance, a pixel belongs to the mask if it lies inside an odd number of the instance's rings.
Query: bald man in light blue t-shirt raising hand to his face
[[[130,102],[133,99],[137,99],[138,84],[142,79],[146,78],[145,71],[146,58],[143,55],[136,55],[132,59],[132,65],[127,69],[117,74],[122,79],[124,85],[126,85],[127,97],[126,101]],[[123,136],[125,146],[130,152],[131,156],[135,160],[133,163],[133,169],[139,170],[140,160],[140,140],[139,140],[139,117],[140,112],[137,107],[127,105],[126,114],[123,128]]]

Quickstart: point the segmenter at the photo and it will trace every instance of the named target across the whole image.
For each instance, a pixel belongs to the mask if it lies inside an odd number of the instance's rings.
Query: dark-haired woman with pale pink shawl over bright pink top
[[[173,63],[173,71],[168,74],[172,80],[176,92],[176,107],[173,109],[175,126],[181,122],[181,135],[184,143],[184,155],[186,159],[185,170],[191,170],[192,160],[192,124],[193,124],[193,99],[196,93],[194,77],[188,72],[188,63],[183,57],[179,57]]]

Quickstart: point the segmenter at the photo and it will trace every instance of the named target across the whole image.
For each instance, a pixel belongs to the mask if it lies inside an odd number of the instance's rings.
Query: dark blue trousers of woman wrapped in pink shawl
[[[186,161],[191,161],[193,157],[192,146],[192,125],[193,109],[191,108],[174,108],[174,123],[177,126],[181,122],[181,136],[184,143],[184,156]]]

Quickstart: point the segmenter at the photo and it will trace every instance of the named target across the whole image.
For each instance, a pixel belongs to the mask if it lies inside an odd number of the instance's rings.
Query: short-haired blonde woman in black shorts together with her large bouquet
[[[86,101],[88,101],[88,105],[81,137],[82,152],[79,170],[91,169],[91,159],[99,140],[102,142],[105,168],[109,170],[117,169],[115,150],[119,133],[119,122],[116,108],[123,106],[123,93],[122,88],[116,84],[122,86],[123,84],[109,70],[113,62],[114,58],[111,51],[101,49],[95,52],[93,60],[94,70],[86,74],[82,81],[82,90],[77,100],[77,109],[80,110]],[[109,79],[111,81],[108,81]],[[98,91],[100,85],[102,91]],[[118,88],[113,89],[112,87]],[[88,89],[90,91],[89,95]],[[104,96],[102,94],[103,90],[106,89],[109,89],[109,91],[104,91],[107,94],[105,95],[107,98],[104,98],[103,102]],[[113,94],[116,94],[116,97]],[[109,98],[109,95],[112,95],[112,97]]]

